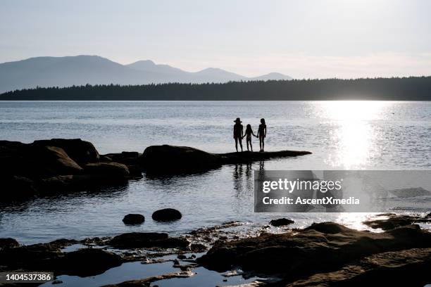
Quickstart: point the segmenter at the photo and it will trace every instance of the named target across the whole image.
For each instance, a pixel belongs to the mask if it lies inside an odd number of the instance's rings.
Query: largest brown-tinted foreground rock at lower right
[[[375,234],[323,222],[297,234],[262,234],[216,243],[199,258],[199,263],[218,271],[238,266],[244,271],[284,274],[294,281],[317,272],[338,270],[344,264],[368,255],[430,247],[431,233],[421,230],[418,225]]]

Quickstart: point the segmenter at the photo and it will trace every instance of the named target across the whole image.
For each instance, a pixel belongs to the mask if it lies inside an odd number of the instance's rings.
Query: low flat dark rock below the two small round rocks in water
[[[165,233],[156,232],[130,232],[115,236],[108,245],[116,248],[185,248],[189,241],[185,238],[169,237]]]

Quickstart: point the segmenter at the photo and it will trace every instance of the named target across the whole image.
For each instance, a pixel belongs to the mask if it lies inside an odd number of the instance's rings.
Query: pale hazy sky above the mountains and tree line
[[[431,75],[431,1],[0,1],[0,62],[151,59],[296,78]]]

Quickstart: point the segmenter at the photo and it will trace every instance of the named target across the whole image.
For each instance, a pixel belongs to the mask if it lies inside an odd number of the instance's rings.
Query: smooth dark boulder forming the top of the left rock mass
[[[33,146],[56,146],[63,148],[70,158],[78,165],[85,165],[89,162],[99,161],[99,153],[93,144],[82,139],[49,139],[34,141]]]

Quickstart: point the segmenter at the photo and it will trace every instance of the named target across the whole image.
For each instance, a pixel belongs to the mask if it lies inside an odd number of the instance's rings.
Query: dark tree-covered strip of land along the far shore
[[[224,84],[86,84],[9,91],[0,100],[431,101],[431,77],[292,79]]]

